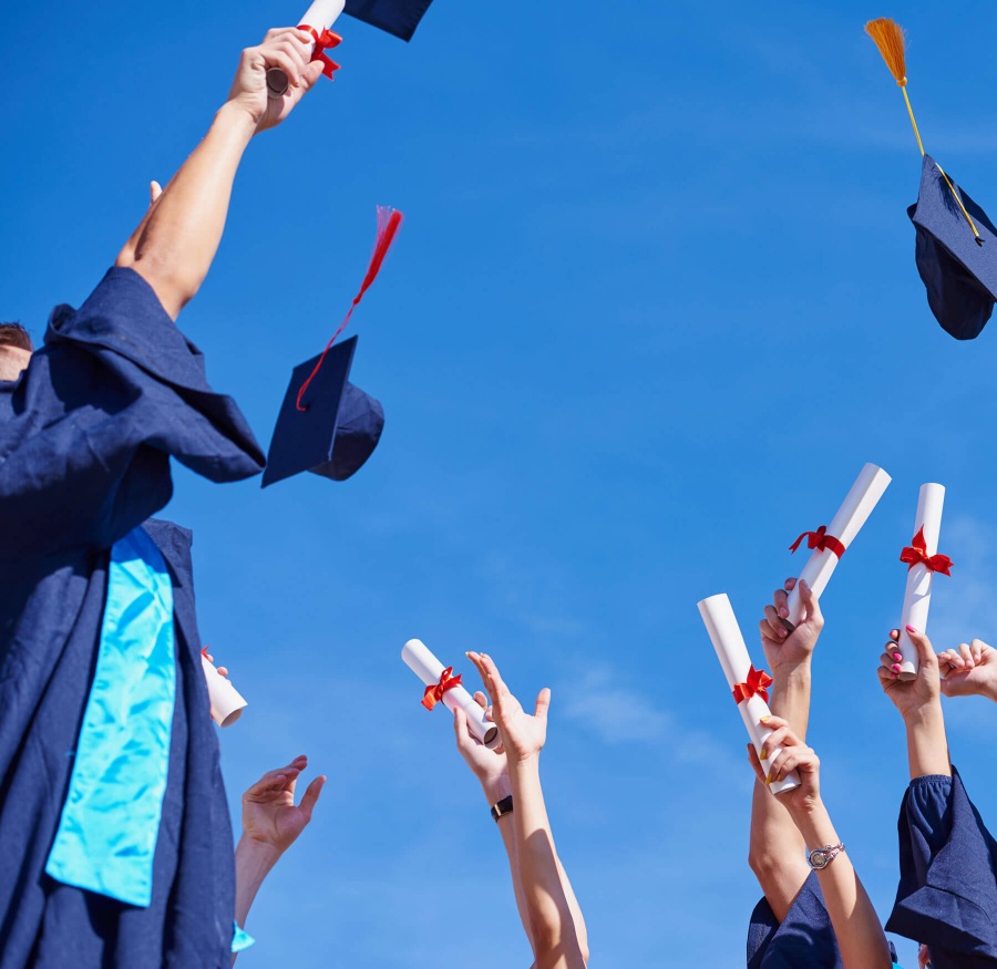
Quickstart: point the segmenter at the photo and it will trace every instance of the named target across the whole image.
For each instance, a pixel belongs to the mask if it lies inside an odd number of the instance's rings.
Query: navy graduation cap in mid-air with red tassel
[[[402,218],[400,212],[378,206],[378,235],[359,292],[326,349],[291,373],[270,441],[263,487],[302,471],[346,481],[378,446],[384,411],[348,380],[357,338],[333,343],[377,278]]]

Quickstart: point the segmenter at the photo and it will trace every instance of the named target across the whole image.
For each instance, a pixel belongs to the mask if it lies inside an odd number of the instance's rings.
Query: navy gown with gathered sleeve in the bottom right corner
[[[927,945],[932,969],[997,967],[997,843],[958,772],[915,777],[900,822],[888,931]]]

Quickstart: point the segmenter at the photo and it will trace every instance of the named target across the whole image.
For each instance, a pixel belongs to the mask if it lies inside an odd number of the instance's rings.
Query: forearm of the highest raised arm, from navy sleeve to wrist
[[[116,265],[138,272],[174,318],[194,297],[222,240],[236,171],[255,123],[227,102],[132,234]]]

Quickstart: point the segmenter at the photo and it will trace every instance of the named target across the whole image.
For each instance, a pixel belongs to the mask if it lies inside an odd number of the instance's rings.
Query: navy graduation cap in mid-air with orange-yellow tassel
[[[986,213],[924,151],[911,99],[904,30],[880,18],[865,24],[904,95],[917,147],[924,157],[914,223],[914,259],[935,319],[957,340],[972,340],[986,326],[997,301],[997,229]]]

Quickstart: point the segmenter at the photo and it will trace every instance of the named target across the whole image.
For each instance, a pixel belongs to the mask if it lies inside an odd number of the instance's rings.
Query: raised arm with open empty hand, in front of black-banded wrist
[[[551,691],[541,690],[531,717],[490,657],[467,656],[485,682],[508,761],[516,858],[536,969],[584,969],[588,960],[585,920],[557,857],[539,781]]]

